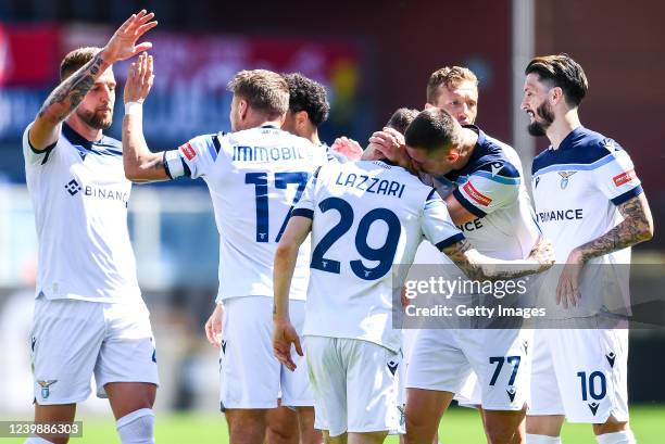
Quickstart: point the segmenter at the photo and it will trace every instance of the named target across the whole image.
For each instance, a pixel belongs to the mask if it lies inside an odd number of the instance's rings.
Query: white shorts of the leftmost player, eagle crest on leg
[[[112,304],[77,300],[35,300],[32,331],[35,402],[75,404],[105,397],[110,382],[159,384],[150,314],[141,301]]]

